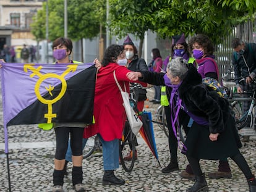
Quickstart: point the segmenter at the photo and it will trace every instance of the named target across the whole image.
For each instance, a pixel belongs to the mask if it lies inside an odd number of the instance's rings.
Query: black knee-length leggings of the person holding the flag
[[[70,133],[70,147],[73,156],[82,156],[82,139],[83,127],[57,127],[54,128],[56,135],[56,152],[55,159],[65,159],[67,146],[69,143]]]

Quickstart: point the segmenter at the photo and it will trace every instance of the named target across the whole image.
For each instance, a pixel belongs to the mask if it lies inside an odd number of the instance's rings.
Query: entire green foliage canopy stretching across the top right
[[[204,33],[214,43],[233,25],[252,18],[256,2],[249,0],[109,0],[109,26],[114,35],[132,33],[143,40],[147,30],[163,38]]]

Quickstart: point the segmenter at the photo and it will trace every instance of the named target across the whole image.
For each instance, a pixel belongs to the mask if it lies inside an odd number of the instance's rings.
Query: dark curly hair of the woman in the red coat
[[[124,51],[124,46],[118,45],[118,44],[111,44],[103,56],[102,65],[105,67],[110,62],[114,62],[114,60],[117,59],[117,57]]]

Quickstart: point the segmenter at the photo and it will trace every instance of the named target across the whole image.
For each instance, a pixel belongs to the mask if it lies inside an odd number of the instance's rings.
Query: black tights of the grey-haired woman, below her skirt
[[[252,175],[252,172],[250,171],[249,165],[245,161],[244,156],[242,156],[241,152],[232,156],[231,159],[242,170],[242,172],[244,173],[247,180],[254,177],[254,175]],[[191,157],[191,156],[187,156],[187,160],[189,161],[189,164],[192,168],[194,175],[196,175],[196,176],[202,175],[202,170],[201,170],[200,164],[199,164],[200,159],[197,159],[197,158]]]

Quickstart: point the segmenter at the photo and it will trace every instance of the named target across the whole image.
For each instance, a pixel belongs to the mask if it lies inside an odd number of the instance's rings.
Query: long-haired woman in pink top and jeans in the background
[[[162,69],[163,61],[162,61],[162,57],[161,57],[159,49],[157,49],[157,48],[152,49],[151,57],[152,57],[152,61],[150,62],[149,66],[148,66],[149,69],[153,72],[160,73],[161,70],[163,70]],[[155,96],[150,102],[153,102],[154,104],[160,104],[161,86],[154,85],[154,89],[155,89]]]

